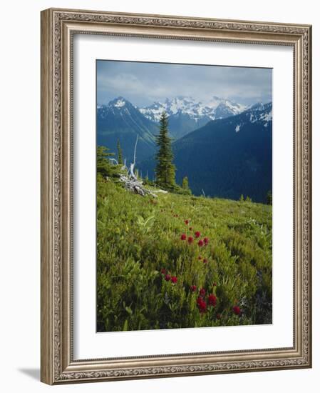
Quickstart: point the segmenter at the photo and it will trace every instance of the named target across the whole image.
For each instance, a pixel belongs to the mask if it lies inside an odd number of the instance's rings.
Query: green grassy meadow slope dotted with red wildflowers
[[[98,181],[97,203],[98,331],[272,322],[272,207],[177,194],[140,197],[113,181]],[[207,246],[180,239],[183,233],[195,238],[195,231],[209,239]],[[201,288],[206,312],[197,307]],[[208,294],[217,297],[215,306]]]

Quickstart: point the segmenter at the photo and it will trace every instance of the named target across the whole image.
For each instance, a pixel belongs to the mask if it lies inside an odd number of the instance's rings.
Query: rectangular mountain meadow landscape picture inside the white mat
[[[272,323],[272,69],[96,61],[97,332]]]

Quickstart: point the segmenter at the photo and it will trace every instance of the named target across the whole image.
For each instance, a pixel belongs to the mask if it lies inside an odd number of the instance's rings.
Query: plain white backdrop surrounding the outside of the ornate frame
[[[317,392],[320,372],[319,204],[320,155],[314,154],[314,368],[281,372],[149,379],[47,387],[38,382],[40,367],[40,15],[41,9],[76,9],[180,14],[314,25],[314,151],[320,147],[319,11],[316,1],[10,1],[1,4],[1,391],[44,392]],[[317,222],[318,221],[318,222]]]

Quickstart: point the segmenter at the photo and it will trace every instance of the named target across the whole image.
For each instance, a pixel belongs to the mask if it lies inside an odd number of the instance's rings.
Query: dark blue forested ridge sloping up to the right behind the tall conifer
[[[241,194],[265,202],[272,191],[272,104],[208,122],[172,144],[181,184],[188,177],[196,195],[239,199]],[[152,178],[153,157],[138,168]]]

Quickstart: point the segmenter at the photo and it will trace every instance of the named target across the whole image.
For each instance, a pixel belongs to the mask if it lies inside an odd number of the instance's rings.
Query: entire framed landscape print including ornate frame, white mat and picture
[[[311,26],[41,13],[41,380],[311,367]]]

